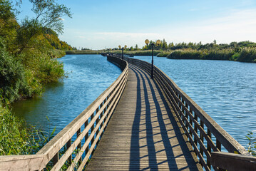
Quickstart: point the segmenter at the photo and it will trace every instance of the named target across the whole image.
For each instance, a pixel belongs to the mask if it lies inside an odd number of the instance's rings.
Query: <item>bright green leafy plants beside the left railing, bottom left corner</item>
[[[0,155],[35,154],[53,138],[55,129],[46,133],[26,125],[24,120],[11,114],[9,106],[3,101],[8,103],[0,94]]]

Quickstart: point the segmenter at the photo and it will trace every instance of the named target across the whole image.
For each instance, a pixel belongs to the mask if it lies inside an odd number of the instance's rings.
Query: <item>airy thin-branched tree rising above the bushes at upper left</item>
[[[51,28],[57,33],[63,33],[63,19],[71,17],[71,11],[63,4],[57,4],[55,0],[29,0],[33,4],[32,11],[36,16],[32,19],[26,17],[21,22],[17,31],[18,55],[25,48],[34,48],[33,38],[43,33],[44,28]],[[31,42],[32,41],[32,42]]]

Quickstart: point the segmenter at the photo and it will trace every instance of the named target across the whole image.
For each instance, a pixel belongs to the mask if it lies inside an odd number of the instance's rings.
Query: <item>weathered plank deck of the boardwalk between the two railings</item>
[[[202,170],[158,85],[129,64],[128,83],[86,170]]]

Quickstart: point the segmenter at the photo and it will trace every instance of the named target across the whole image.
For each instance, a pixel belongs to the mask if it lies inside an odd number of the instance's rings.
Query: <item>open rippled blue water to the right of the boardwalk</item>
[[[155,57],[154,64],[242,145],[248,131],[256,135],[256,63]]]

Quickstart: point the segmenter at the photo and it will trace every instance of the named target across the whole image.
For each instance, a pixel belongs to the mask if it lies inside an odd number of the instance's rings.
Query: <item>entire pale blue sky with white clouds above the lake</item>
[[[77,48],[139,47],[146,38],[179,42],[256,42],[256,0],[58,0],[71,8],[59,37]],[[19,19],[33,16],[24,0]]]

